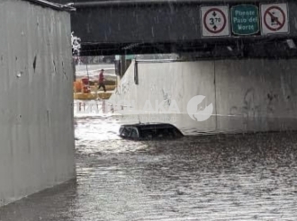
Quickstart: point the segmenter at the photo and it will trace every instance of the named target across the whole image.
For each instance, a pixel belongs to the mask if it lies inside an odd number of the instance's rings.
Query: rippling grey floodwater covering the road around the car
[[[108,114],[76,119],[76,181],[0,209],[1,221],[296,220],[297,134],[136,142]]]

